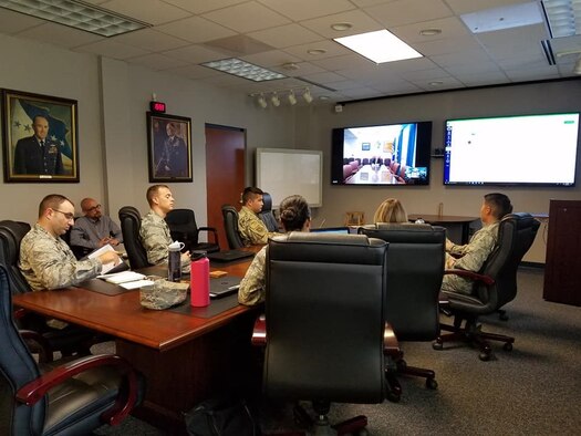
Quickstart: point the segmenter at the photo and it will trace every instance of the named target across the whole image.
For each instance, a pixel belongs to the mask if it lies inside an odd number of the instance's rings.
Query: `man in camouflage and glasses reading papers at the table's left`
[[[20,243],[19,268],[33,291],[60,289],[95,278],[103,264],[121,262],[115,251],[94,259],[76,260],[60,236],[74,224],[74,205],[50,194],[39,206],[39,219]]]

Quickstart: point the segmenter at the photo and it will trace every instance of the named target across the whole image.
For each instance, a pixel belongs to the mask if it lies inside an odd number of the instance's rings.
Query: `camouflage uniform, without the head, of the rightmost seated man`
[[[470,242],[465,246],[453,246],[449,253],[461,256],[459,259],[446,253],[446,269],[461,269],[467,271],[480,271],[488,256],[495,249],[498,239],[498,222],[484,226],[474,233]],[[474,282],[470,279],[454,274],[444,276],[442,290],[448,292],[473,293]]]

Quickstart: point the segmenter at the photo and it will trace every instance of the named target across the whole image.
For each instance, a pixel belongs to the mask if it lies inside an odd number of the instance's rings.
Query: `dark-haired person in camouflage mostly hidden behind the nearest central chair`
[[[279,207],[280,221],[284,231],[309,231],[311,228],[311,209],[300,195],[284,198]],[[264,274],[267,268],[268,246],[255,256],[238,289],[238,302],[255,305],[264,301]]]

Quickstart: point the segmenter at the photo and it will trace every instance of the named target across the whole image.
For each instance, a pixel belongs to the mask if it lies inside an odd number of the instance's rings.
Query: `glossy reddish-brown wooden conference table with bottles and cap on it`
[[[211,270],[243,277],[251,260],[212,263]],[[165,269],[141,272],[160,276]],[[93,279],[66,289],[18,294],[13,304],[113,336],[116,353],[146,377],[145,399],[134,414],[169,434],[184,434],[183,413],[203,399],[247,390],[248,383],[260,380],[252,374],[258,351],[250,344],[258,308],[238,304],[234,294],[211,300],[208,308],[188,304],[181,312],[157,311],[141,305],[138,289],[118,288],[116,293],[115,288]]]

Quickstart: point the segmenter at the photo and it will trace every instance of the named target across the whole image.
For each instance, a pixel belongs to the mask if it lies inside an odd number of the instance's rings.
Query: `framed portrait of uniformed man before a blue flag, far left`
[[[79,183],[76,100],[1,90],[7,183]]]

